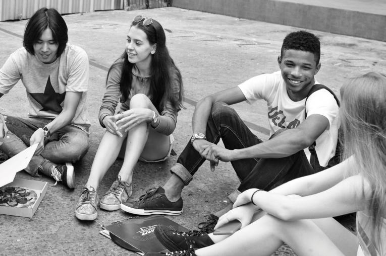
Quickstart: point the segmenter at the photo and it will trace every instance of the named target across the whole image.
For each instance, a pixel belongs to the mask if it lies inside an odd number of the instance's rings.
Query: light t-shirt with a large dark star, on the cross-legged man
[[[63,110],[66,92],[82,92],[70,124],[89,133],[88,57],[82,48],[67,44],[59,58],[45,64],[22,47],[0,69],[0,93],[7,94],[20,79],[27,91],[30,117],[56,118]]]

